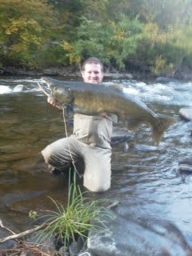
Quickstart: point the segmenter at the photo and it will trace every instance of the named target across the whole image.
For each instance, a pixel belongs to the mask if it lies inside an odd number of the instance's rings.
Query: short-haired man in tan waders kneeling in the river
[[[98,58],[88,58],[82,64],[84,82],[102,83],[103,65]],[[51,98],[47,99],[57,106]],[[59,106],[57,106],[59,108]],[[112,118],[103,113],[98,116],[74,114],[74,132],[70,137],[59,139],[42,150],[45,161],[63,170],[70,162],[83,158],[85,170],[83,185],[90,191],[102,192],[110,188]]]

